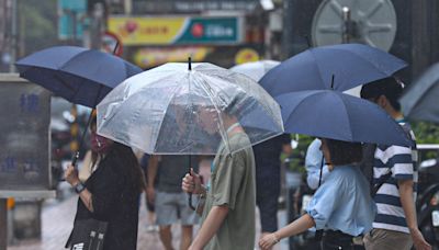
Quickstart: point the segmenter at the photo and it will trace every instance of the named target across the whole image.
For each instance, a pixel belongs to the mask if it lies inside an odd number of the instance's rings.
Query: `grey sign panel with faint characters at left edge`
[[[50,93],[0,78],[0,191],[48,190]]]

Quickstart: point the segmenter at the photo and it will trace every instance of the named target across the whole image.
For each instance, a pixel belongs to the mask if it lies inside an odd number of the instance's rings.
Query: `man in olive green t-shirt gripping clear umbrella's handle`
[[[203,112],[200,112],[203,118]],[[202,226],[190,249],[250,250],[255,248],[255,157],[250,140],[236,118],[223,115],[229,143],[221,145],[213,162],[211,185],[201,185],[193,171],[182,182],[185,192],[205,197]],[[205,118],[204,128],[213,128]],[[233,154],[226,154],[233,151]]]

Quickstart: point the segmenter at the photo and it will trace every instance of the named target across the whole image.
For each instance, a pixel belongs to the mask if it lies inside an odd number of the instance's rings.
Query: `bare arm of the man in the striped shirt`
[[[418,228],[415,202],[413,200],[413,180],[399,180],[398,188],[401,204],[415,248],[420,250],[431,249],[431,246],[424,239]]]

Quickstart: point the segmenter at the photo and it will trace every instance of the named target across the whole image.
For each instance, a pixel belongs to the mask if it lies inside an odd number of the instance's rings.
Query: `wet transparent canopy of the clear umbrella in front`
[[[236,124],[249,140],[230,146]],[[282,133],[279,104],[256,81],[206,63],[142,72],[98,104],[98,134],[148,154],[230,154]]]

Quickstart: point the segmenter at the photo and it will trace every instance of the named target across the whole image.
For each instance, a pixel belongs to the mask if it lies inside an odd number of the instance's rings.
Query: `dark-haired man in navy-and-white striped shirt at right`
[[[364,84],[361,98],[381,106],[415,141],[409,124],[404,120],[398,99],[403,86],[390,77]],[[367,250],[431,249],[424,239],[416,219],[416,147],[378,145],[374,154],[372,184],[381,184],[374,201],[378,214],[373,229],[364,236]]]

